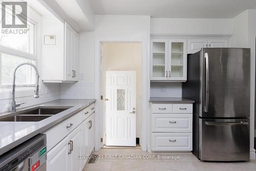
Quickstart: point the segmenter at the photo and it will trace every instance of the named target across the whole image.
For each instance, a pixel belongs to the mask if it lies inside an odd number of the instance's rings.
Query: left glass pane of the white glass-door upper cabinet
[[[153,77],[165,76],[165,42],[153,42]]]

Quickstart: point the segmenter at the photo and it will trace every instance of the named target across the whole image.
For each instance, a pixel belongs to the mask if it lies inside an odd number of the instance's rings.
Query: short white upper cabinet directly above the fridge
[[[188,39],[188,54],[196,53],[202,48],[228,48],[228,39]]]

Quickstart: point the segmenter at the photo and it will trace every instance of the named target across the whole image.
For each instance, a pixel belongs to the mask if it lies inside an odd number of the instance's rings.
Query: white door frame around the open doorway
[[[142,151],[147,151],[150,149],[148,147],[147,142],[150,142],[150,115],[147,115],[148,109],[150,107],[148,103],[148,99],[150,98],[150,38],[144,37],[96,37],[95,38],[95,125],[100,125],[95,127],[95,151],[99,151],[100,147],[103,144],[100,142],[100,138],[103,138],[103,127],[102,127],[102,116],[101,113],[101,80],[100,80],[100,58],[101,58],[101,43],[106,42],[136,42],[141,43],[142,45],[142,87],[146,87],[146,89],[142,89],[142,110],[141,110],[141,137],[140,137],[140,145]],[[143,122],[142,122],[143,120]]]

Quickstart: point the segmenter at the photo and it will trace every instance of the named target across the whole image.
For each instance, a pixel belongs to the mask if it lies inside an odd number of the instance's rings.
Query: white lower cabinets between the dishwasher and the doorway
[[[58,126],[62,122],[45,132],[47,142],[54,145],[47,153],[48,171],[81,171],[94,150],[94,112],[87,114],[84,120],[82,120],[81,112],[78,112],[63,122],[72,124],[74,117],[79,119],[79,125],[72,132],[67,133],[65,138],[59,139],[58,143],[51,143],[55,139],[52,132],[62,132]],[[58,136],[56,137],[58,138]]]

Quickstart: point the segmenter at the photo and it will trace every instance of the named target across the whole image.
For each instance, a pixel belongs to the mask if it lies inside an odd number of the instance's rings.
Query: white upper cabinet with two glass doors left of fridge
[[[186,81],[185,39],[151,40],[151,80]]]

